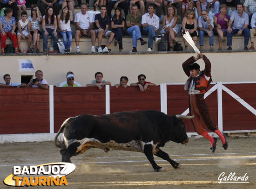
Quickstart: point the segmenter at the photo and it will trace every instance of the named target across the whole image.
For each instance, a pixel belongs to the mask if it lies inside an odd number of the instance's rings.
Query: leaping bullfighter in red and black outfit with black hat
[[[195,61],[200,58],[202,58],[205,63],[205,68],[202,71],[200,71],[199,64],[195,63]],[[197,57],[190,57],[182,63],[182,68],[185,74],[189,77],[185,83],[184,89],[189,91],[189,113],[190,115],[194,115],[194,118],[191,121],[195,131],[210,141],[210,149],[214,152],[216,150],[217,138],[211,137],[209,133],[202,128],[201,121],[203,121],[210,131],[215,132],[220,137],[222,147],[227,150],[228,141],[226,136],[221,133],[218,126],[212,123],[208,107],[203,98],[206,89],[210,82],[212,82],[211,63],[209,59],[201,53],[198,54]]]

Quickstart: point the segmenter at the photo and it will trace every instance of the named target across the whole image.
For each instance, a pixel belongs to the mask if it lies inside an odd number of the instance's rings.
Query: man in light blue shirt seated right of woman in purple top
[[[248,14],[243,12],[243,4],[239,3],[237,5],[237,11],[234,11],[229,20],[228,26],[228,50],[232,50],[232,37],[234,34],[242,35],[244,34],[244,50],[248,50],[249,43],[249,17]],[[233,27],[231,28],[232,22],[234,21]]]

